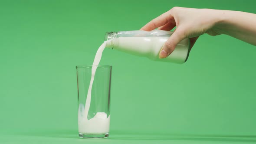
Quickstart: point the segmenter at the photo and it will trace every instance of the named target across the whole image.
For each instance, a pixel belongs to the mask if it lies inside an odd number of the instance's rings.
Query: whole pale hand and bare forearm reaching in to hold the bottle
[[[166,41],[159,58],[165,58],[174,51],[181,40],[190,39],[191,48],[204,33],[210,36],[226,34],[256,46],[256,14],[230,10],[194,9],[174,7],[151,20],[141,30],[161,29],[174,33]]]

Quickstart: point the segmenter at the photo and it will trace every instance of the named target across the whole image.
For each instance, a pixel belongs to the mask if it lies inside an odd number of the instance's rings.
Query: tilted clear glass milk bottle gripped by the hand
[[[130,53],[136,56],[145,56],[154,61],[173,62],[182,64],[187,60],[190,41],[184,39],[179,43],[171,55],[164,59],[159,59],[159,52],[170,38],[173,32],[163,30],[147,31],[124,31],[108,34],[105,40],[106,47],[117,49],[122,52]]]

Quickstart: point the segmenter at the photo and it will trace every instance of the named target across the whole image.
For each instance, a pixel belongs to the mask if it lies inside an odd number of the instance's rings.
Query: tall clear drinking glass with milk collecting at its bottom
[[[112,66],[76,66],[76,70],[79,137],[107,138]]]

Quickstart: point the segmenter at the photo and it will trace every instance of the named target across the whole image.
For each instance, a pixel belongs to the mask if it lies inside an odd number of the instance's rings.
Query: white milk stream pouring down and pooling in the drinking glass
[[[95,76],[95,72],[102,58],[102,52],[105,49],[106,42],[103,43],[99,48],[95,55],[93,66],[92,66],[92,77],[87,93],[87,98],[84,105],[79,105],[78,111],[78,131],[82,134],[105,134],[109,132],[109,123],[110,123],[110,115],[107,117],[105,112],[97,112],[96,115],[88,120],[88,112],[91,105],[91,95],[92,95],[92,84]]]

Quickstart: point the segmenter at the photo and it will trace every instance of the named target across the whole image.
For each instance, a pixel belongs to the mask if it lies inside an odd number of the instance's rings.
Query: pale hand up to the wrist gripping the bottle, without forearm
[[[174,7],[151,20],[141,30],[151,31],[158,28],[170,31],[176,26],[174,33],[166,41],[159,53],[159,58],[165,58],[185,38],[190,38],[190,46],[192,48],[198,37],[204,33],[208,33],[211,36],[221,34],[221,31],[215,27],[219,21],[219,13],[221,13],[221,10]]]

